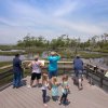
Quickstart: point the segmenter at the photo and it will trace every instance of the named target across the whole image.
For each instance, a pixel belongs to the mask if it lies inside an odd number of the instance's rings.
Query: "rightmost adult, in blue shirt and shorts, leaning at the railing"
[[[80,55],[77,55],[73,59],[73,69],[76,75],[76,81],[78,80],[79,90],[82,90],[82,73],[83,73],[83,62]]]

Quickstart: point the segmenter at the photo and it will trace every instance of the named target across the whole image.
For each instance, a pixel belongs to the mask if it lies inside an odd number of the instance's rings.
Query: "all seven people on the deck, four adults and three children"
[[[68,85],[68,76],[63,75],[62,77],[62,83],[57,81],[57,62],[60,59],[60,55],[56,52],[51,52],[50,56],[48,57],[49,63],[49,72],[42,72],[41,68],[44,67],[44,64],[42,64],[39,60],[39,55],[35,56],[35,59],[28,65],[28,67],[31,67],[31,79],[30,84],[27,85],[28,87],[33,86],[33,81],[37,81],[37,85],[40,83],[40,79],[42,78],[42,98],[43,98],[43,105],[46,107],[46,91],[50,90],[52,92],[52,99],[58,100],[58,104],[66,104],[68,102],[67,96],[69,94],[69,85]],[[14,80],[13,80],[13,87],[21,86],[21,79],[22,79],[22,60],[19,59],[19,54],[15,55],[15,58],[13,59],[13,72],[14,72]],[[79,90],[82,89],[82,69],[83,69],[83,62],[80,59],[80,56],[77,56],[77,58],[73,60],[75,66],[75,75],[76,75],[76,81],[80,82]],[[62,95],[59,97],[59,91],[58,86],[62,86]],[[58,98],[59,97],[59,98]]]

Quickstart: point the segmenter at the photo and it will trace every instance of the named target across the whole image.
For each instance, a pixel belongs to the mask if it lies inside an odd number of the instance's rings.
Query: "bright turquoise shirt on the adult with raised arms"
[[[60,59],[60,56],[49,56],[48,59],[50,60],[49,70],[56,71],[57,70],[57,60]]]

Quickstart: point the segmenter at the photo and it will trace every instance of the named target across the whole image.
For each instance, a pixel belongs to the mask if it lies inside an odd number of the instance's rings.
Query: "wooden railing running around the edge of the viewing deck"
[[[28,66],[29,62],[30,60],[23,62],[24,69],[28,69],[27,66]],[[46,70],[48,64],[49,64],[49,62],[46,60],[45,66],[43,68],[44,71],[48,71]],[[0,83],[2,83],[3,79],[6,79],[13,75],[12,65],[0,68],[0,71],[1,71],[0,72]],[[62,71],[62,72],[59,72],[59,71]],[[106,71],[107,71],[106,68],[97,67],[90,63],[84,63],[84,73],[85,73],[86,79],[87,78],[93,79],[93,76],[98,77],[100,87],[103,87],[104,80],[108,81],[108,78],[105,77]],[[58,73],[72,73],[72,72],[73,72],[73,62],[58,62]]]

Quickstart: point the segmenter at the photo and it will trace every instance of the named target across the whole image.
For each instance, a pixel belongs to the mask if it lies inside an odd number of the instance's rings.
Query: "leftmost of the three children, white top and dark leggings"
[[[42,98],[43,98],[43,104],[44,104],[44,107],[46,107],[46,89],[49,86],[49,77],[46,73],[43,73],[42,75]]]

